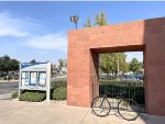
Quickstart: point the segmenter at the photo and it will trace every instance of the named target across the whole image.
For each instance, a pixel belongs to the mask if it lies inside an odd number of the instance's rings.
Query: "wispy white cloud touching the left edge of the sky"
[[[29,18],[15,18],[9,11],[0,11],[0,36],[29,36],[30,29],[37,27]]]

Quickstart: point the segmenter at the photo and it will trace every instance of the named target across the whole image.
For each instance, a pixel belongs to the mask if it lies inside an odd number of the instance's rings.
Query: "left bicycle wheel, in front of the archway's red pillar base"
[[[110,109],[110,102],[105,97],[96,97],[91,102],[91,110],[97,116],[108,115]]]

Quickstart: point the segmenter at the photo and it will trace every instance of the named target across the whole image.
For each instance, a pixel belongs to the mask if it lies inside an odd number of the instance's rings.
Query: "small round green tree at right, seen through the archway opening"
[[[138,72],[142,70],[141,63],[136,58],[132,58],[132,60],[129,64],[129,68],[133,72]]]

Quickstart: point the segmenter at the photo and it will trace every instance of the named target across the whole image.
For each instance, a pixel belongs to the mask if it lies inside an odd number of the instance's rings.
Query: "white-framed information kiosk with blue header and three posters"
[[[19,97],[22,90],[46,91],[46,100],[51,93],[51,63],[20,64]]]

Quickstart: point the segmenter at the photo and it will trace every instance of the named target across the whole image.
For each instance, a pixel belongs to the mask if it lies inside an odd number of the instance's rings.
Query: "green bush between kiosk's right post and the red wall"
[[[59,87],[53,90],[52,99],[53,100],[66,100],[66,88]]]

